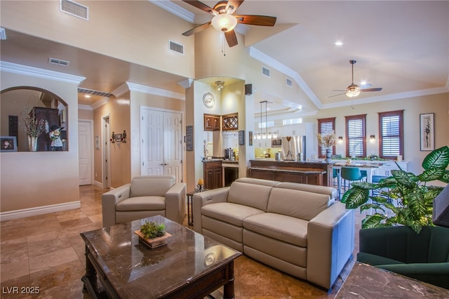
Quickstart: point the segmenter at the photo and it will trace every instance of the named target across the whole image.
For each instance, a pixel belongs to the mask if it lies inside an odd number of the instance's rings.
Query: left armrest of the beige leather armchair
[[[131,184],[126,184],[102,194],[101,209],[103,227],[116,225],[115,206],[123,199],[129,198],[130,185]]]

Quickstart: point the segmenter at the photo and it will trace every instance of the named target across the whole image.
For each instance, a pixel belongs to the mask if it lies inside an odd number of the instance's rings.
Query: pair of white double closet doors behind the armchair
[[[140,174],[182,182],[182,113],[141,107],[140,121]]]

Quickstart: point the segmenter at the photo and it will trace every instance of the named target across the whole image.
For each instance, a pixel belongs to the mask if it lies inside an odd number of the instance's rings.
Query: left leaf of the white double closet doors
[[[163,175],[163,112],[142,109],[140,174]]]

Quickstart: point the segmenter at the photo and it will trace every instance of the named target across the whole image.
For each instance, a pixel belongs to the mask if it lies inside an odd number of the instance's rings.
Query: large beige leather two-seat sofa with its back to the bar
[[[354,251],[354,212],[332,187],[239,178],[194,194],[194,230],[329,289]]]

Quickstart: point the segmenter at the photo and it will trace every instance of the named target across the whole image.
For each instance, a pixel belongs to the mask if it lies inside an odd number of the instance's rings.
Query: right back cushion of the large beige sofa
[[[300,190],[273,188],[267,212],[311,220],[330,206],[330,197]]]

